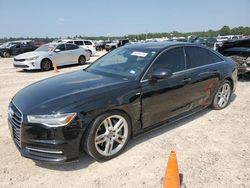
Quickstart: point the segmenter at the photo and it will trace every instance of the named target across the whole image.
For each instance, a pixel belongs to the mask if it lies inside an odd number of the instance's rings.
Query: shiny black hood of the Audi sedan
[[[95,96],[103,99],[105,92],[112,93],[110,90],[123,84],[129,81],[81,70],[29,85],[14,96],[13,103],[23,114],[57,113],[70,105],[95,100]]]

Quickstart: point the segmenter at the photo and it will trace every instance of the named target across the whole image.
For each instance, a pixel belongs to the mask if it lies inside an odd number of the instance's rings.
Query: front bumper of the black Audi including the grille
[[[75,118],[69,125],[50,128],[42,124],[30,124],[26,115],[11,103],[9,128],[15,145],[23,157],[43,162],[63,163],[79,159],[84,129]]]

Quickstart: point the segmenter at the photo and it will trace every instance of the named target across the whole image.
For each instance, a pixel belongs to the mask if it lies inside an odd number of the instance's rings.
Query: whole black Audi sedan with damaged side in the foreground
[[[235,62],[207,47],[128,45],[20,90],[9,104],[9,128],[33,160],[68,162],[83,150],[109,160],[135,135],[208,106],[225,108],[236,81]]]

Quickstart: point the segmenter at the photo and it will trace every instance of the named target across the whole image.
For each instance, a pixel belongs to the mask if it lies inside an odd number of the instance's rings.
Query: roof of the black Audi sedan
[[[125,48],[162,50],[170,46],[183,45],[183,44],[194,45],[194,43],[189,43],[189,42],[163,41],[163,42],[145,42],[145,43],[125,45]]]

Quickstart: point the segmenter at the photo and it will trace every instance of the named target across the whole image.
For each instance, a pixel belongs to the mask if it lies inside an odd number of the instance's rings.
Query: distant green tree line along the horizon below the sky
[[[223,36],[223,35],[250,35],[250,27],[234,27],[230,28],[229,26],[223,26],[219,30],[212,30],[209,29],[208,31],[199,31],[199,32],[161,32],[161,33],[141,33],[141,34],[130,34],[125,36],[68,36],[66,38],[80,38],[80,39],[91,39],[91,40],[113,40],[113,39],[130,39],[130,40],[146,40],[151,38],[172,38],[172,37],[188,37],[190,35],[199,36],[199,37],[216,37],[216,36]],[[58,37],[60,38],[60,37]],[[10,38],[0,38],[0,43],[8,42],[8,41],[15,41],[15,40],[34,40],[44,43],[49,43],[57,38],[39,38],[39,37],[10,37]]]

